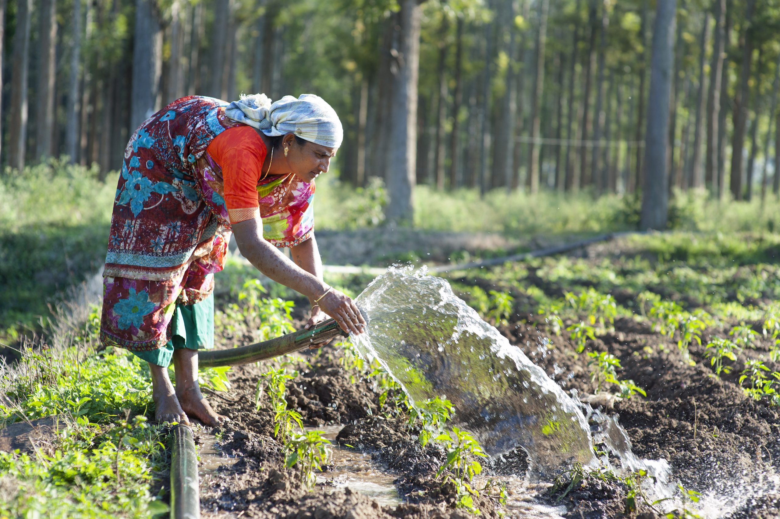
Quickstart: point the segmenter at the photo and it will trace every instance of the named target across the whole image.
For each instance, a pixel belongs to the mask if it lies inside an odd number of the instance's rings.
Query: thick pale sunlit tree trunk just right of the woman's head
[[[420,67],[420,19],[417,0],[401,0],[400,48],[393,78],[387,155],[387,219],[391,225],[413,222],[413,189],[417,148],[417,80]]]

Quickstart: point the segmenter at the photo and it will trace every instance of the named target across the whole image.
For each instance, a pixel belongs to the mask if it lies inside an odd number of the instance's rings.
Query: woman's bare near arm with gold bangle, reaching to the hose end
[[[239,251],[257,270],[275,282],[282,283],[282,285],[302,293],[310,301],[320,298],[317,304],[320,305],[322,311],[334,318],[346,332],[358,334],[363,331],[362,327],[366,322],[353,300],[339,290],[334,290],[326,285],[317,275],[307,272],[293,261],[289,261],[276,247],[269,244],[263,237],[263,223],[259,218],[234,223],[232,229],[236,235]],[[316,244],[310,244],[309,247],[313,247],[312,253],[317,250]],[[317,269],[321,271],[319,254],[317,254],[316,260],[312,258],[311,261],[319,265],[318,267],[314,266],[313,270],[315,272]],[[321,278],[321,272],[319,277]],[[323,296],[323,294],[325,295]]]

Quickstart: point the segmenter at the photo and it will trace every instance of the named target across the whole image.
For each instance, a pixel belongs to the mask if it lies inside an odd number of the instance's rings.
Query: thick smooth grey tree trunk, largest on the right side
[[[667,155],[669,125],[669,94],[674,70],[673,38],[675,34],[676,0],[658,0],[653,29],[650,94],[647,105],[645,140],[644,190],[642,192],[641,229],[664,229],[667,220]]]

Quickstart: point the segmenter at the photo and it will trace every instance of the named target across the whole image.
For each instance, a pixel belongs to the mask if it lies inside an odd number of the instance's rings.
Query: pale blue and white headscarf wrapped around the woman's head
[[[314,94],[292,95],[275,101],[265,94],[241,95],[225,108],[225,116],[276,137],[295,133],[327,148],[339,148],[344,137],[339,116],[325,100]]]

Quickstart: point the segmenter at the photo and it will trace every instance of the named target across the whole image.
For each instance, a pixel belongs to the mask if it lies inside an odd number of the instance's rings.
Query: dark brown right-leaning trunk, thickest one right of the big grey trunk
[[[732,133],[732,161],[731,161],[731,179],[729,187],[731,188],[734,200],[742,200],[742,155],[745,145],[745,126],[747,123],[747,107],[750,105],[750,69],[753,61],[753,35],[750,30],[750,23],[753,19],[753,9],[756,0],[746,0],[745,23],[743,24],[742,34],[742,69],[740,71],[739,90],[734,98],[734,132]]]

